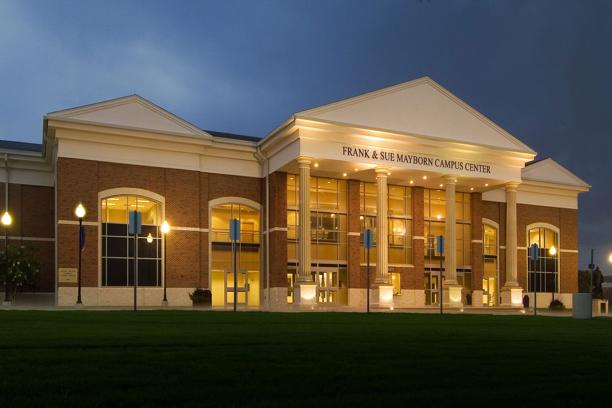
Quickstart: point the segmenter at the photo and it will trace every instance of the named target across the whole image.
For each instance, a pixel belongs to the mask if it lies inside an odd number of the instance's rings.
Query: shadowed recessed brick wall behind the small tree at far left
[[[1,214],[5,207],[6,185],[0,186]],[[12,221],[9,236],[22,238],[55,238],[55,189],[48,186],[9,183],[9,214]],[[0,215],[1,215],[0,214]],[[0,229],[0,244],[4,250],[4,229]],[[35,292],[55,292],[55,243],[39,240],[9,240],[9,244],[31,245],[39,250],[39,278]],[[4,290],[4,287],[2,287]]]

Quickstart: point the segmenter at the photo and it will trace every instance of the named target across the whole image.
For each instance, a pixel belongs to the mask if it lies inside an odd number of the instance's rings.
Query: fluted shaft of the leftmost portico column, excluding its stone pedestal
[[[312,157],[300,156],[297,164],[300,168],[299,186],[299,254],[296,282],[312,282],[310,274],[310,163]]]

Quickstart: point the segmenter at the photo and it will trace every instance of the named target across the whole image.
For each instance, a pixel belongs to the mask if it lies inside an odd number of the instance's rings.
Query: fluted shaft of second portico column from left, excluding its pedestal
[[[374,284],[388,284],[389,278],[389,203],[387,173],[389,167],[376,167],[376,279]]]

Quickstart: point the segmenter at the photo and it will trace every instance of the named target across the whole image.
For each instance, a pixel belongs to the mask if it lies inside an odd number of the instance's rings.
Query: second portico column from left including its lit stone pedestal
[[[387,175],[389,167],[378,166],[376,171],[376,279],[372,285],[373,308],[393,307],[393,285],[389,284],[389,202]],[[368,282],[369,284],[369,282]]]

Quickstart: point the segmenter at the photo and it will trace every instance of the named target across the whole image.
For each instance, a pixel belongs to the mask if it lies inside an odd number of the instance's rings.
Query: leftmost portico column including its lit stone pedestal
[[[310,164],[312,157],[300,156],[299,225],[297,255],[297,278],[294,287],[294,306],[314,308],[316,306],[316,283],[310,274]]]

